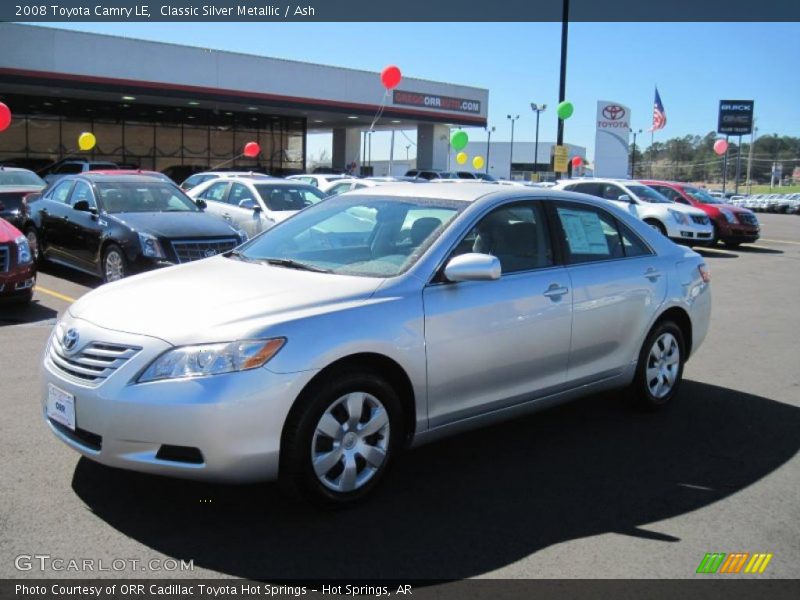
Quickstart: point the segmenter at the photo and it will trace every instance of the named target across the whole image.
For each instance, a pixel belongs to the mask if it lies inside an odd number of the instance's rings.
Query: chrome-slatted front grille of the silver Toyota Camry
[[[50,343],[50,361],[58,370],[83,382],[100,384],[130,360],[141,348],[92,342],[70,355],[58,335]]]

